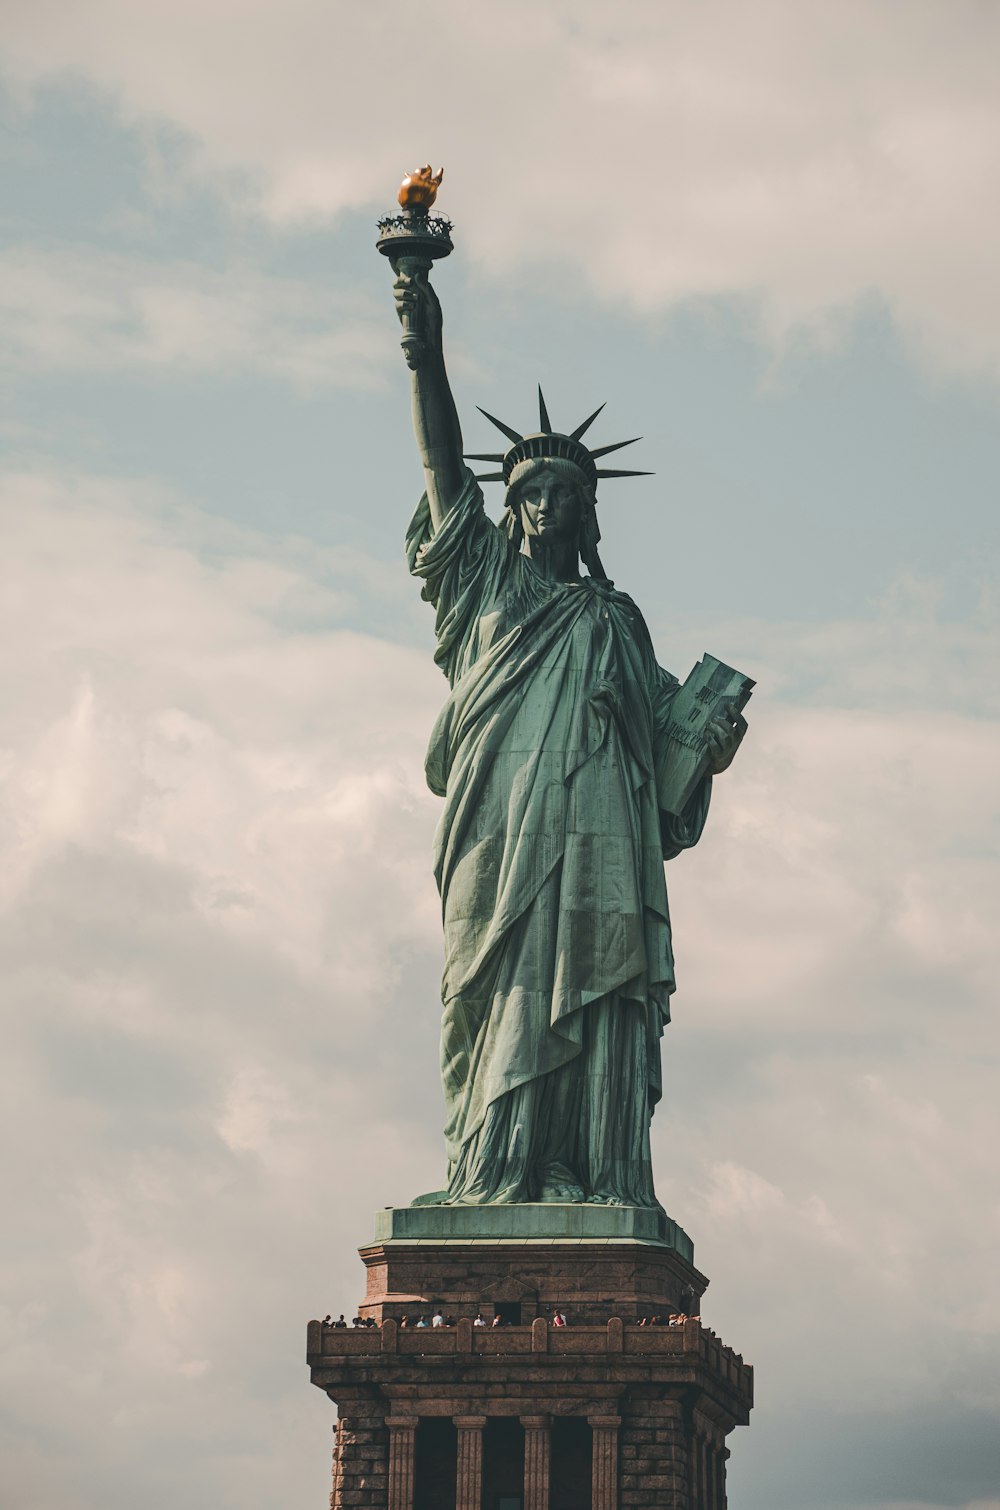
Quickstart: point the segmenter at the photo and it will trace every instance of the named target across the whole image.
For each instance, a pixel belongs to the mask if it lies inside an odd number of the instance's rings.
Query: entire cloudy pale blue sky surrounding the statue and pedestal
[[[1000,1507],[1000,6],[8,0],[0,1486],[329,1492],[305,1323],[443,1175],[444,683],[375,222],[444,165],[470,450],[535,390],[678,675],[757,680],[657,1190],[734,1510]],[[498,495],[489,500],[500,510]]]

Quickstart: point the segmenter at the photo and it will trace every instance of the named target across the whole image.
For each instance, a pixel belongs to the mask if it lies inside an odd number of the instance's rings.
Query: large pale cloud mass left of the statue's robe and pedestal
[[[148,485],[6,477],[0,501],[21,1149],[5,1495],[273,1505],[302,1462],[319,1498],[302,1326],[349,1303],[372,1208],[438,1173],[421,746],[440,675],[344,628],[360,589],[391,607],[350,554],[243,536]],[[260,1447],[273,1430],[284,1466]],[[154,1480],[151,1441],[184,1442]]]

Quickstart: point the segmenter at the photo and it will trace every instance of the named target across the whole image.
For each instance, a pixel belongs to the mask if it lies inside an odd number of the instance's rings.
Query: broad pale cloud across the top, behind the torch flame
[[[947,373],[1000,365],[1000,17],[976,0],[281,14],[86,0],[9,17],[21,88],[83,77],[180,128],[177,166],[287,225],[447,163],[458,246],[639,311],[739,299],[838,340],[882,300]]]

